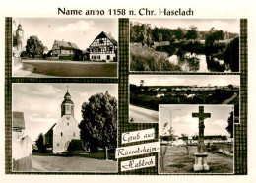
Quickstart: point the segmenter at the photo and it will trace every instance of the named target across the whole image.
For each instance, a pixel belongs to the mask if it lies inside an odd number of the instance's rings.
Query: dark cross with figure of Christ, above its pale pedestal
[[[199,124],[198,124],[198,128],[199,128],[199,136],[198,136],[198,145],[197,145],[197,151],[199,153],[204,153],[205,152],[205,145],[204,145],[204,129],[205,129],[205,124],[204,124],[204,120],[206,118],[210,118],[211,117],[211,113],[204,113],[204,106],[199,106],[199,112],[192,113],[192,117],[197,117],[199,118]]]

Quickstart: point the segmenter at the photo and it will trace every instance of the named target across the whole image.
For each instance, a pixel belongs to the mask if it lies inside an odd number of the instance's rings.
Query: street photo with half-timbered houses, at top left
[[[14,77],[117,77],[118,19],[13,18]]]

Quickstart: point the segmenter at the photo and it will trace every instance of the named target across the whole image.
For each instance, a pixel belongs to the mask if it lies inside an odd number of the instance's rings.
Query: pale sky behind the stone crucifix
[[[204,106],[204,113],[211,113],[211,118],[204,120],[204,135],[226,135],[229,137],[230,135],[225,128],[228,124],[227,119],[230,117],[230,112],[233,111],[233,105],[160,105],[160,135],[165,132],[165,130],[163,130],[164,123],[168,122],[166,129],[170,127],[170,112],[171,126],[175,135],[198,135],[199,120],[198,118],[192,117],[192,113],[198,113],[199,106]]]

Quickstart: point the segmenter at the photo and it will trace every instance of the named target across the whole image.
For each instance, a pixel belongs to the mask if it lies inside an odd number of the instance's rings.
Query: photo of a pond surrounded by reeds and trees
[[[239,72],[238,19],[130,19],[130,71]]]

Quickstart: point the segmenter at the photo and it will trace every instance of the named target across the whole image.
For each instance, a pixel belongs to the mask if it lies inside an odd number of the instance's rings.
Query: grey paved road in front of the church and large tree
[[[117,161],[32,155],[32,171],[117,172]]]

